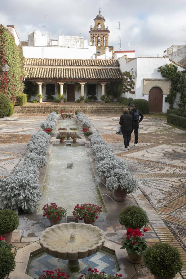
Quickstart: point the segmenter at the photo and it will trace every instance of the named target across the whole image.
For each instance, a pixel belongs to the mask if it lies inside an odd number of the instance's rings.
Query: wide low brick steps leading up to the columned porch
[[[60,113],[61,110],[64,113],[69,113],[70,110],[76,111],[79,110],[82,113],[87,114],[101,114],[101,113],[122,113],[123,108],[121,106],[81,106],[81,105],[71,105],[71,106],[23,106],[23,107],[14,107],[14,113],[27,113],[27,114],[43,114],[43,113],[52,113],[53,111],[58,111]]]

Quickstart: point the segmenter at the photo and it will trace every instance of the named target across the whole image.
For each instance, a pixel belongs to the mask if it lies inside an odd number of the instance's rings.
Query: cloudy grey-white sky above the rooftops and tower
[[[109,46],[135,50],[136,56],[159,56],[172,45],[186,44],[186,0],[0,0],[0,23],[14,25],[21,41],[40,30],[90,38],[88,30],[99,12],[108,24]],[[182,31],[185,30],[185,31]]]

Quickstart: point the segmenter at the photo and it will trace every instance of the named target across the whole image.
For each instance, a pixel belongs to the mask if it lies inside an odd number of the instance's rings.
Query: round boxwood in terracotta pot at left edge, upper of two
[[[19,225],[19,217],[14,210],[0,210],[0,236],[5,238],[7,245],[11,242],[12,232]]]

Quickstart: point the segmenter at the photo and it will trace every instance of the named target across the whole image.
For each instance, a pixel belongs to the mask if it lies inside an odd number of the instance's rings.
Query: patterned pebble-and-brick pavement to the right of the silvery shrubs
[[[119,115],[89,115],[96,130],[129,163],[139,181],[133,194],[147,212],[150,224],[161,241],[177,247],[183,257],[186,277],[186,131],[163,119],[144,117],[139,124],[139,143],[123,151],[122,135],[115,135]],[[167,179],[168,178],[168,179]],[[180,244],[180,245],[179,245]]]

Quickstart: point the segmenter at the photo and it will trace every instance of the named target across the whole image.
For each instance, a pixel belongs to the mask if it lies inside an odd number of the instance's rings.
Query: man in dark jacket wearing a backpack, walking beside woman
[[[135,142],[134,142],[134,146],[137,146],[138,143],[138,129],[139,129],[139,123],[143,120],[143,114],[135,108],[134,104],[130,104],[130,108],[131,110],[129,111],[129,113],[132,115],[133,117],[133,121],[134,121],[134,126],[135,126],[135,130],[134,130],[134,135],[135,135]],[[140,116],[140,119],[139,119]],[[133,130],[131,131],[132,134]],[[129,140],[131,141],[131,134],[129,136]]]

